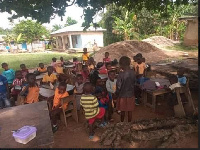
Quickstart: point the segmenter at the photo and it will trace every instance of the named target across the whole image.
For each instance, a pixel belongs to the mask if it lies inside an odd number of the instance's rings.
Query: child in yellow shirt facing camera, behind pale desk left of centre
[[[52,66],[48,66],[47,67],[47,74],[44,75],[43,79],[42,79],[42,84],[47,84],[50,85],[50,83],[52,85],[55,85],[57,81],[57,77],[55,74],[53,74],[53,67]]]

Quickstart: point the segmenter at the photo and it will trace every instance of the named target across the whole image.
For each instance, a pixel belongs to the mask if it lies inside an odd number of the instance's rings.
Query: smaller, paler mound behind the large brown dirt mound
[[[159,47],[174,46],[177,43],[176,41],[170,40],[164,36],[152,36],[142,41],[150,43],[156,47],[157,46]]]

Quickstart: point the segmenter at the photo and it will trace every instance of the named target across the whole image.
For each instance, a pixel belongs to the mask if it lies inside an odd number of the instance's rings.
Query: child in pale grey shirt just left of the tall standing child
[[[108,95],[109,95],[109,105],[108,105],[108,113],[109,113],[109,120],[113,120],[111,119],[111,115],[112,115],[112,103],[113,103],[113,98],[114,93],[116,92],[116,83],[117,83],[117,79],[115,79],[116,77],[116,73],[115,71],[111,70],[108,72],[108,80],[106,81],[106,89],[108,91]]]

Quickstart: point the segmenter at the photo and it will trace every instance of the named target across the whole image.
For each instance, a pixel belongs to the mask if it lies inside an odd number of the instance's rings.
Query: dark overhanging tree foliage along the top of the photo
[[[93,16],[99,11],[103,10],[106,5],[115,3],[118,7],[123,6],[128,10],[142,8],[143,5],[148,10],[163,11],[163,15],[167,13],[167,7],[171,4],[188,4],[194,2],[197,4],[197,0],[1,0],[0,1],[0,12],[16,12],[12,14],[11,19],[16,19],[24,16],[32,17],[38,22],[47,23],[55,14],[64,16],[66,7],[73,4],[77,4],[79,7],[84,8],[84,19],[83,25],[87,28],[90,23],[93,22]]]

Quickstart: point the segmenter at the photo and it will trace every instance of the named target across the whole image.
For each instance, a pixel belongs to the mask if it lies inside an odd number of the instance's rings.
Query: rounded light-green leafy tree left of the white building
[[[43,36],[48,36],[49,32],[44,26],[32,20],[21,21],[13,28],[15,35],[21,35],[23,41],[31,43],[35,40],[43,39]]]

